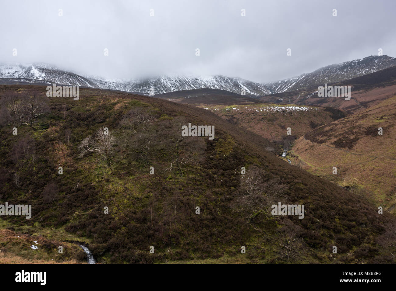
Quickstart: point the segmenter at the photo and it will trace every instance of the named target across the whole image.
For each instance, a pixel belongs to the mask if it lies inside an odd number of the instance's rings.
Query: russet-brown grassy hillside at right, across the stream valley
[[[308,132],[293,146],[292,164],[326,177],[395,213],[396,96]],[[382,135],[379,134],[382,128]],[[333,175],[337,167],[337,175]]]

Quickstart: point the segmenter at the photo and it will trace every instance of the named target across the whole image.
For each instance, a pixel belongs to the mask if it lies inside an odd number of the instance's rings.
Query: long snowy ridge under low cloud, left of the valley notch
[[[19,82],[29,83],[43,83],[44,80],[47,80],[49,83],[142,92],[146,94],[149,94],[151,89],[154,91],[154,94],[161,94],[202,88],[221,89],[237,94],[241,94],[242,88],[244,88],[247,95],[258,96],[271,93],[263,84],[225,76],[160,76],[145,80],[109,81],[97,77],[80,76],[45,64],[2,65],[0,66],[0,78],[3,79],[3,83],[5,79],[8,79],[8,83],[10,83],[11,78],[14,80],[17,78]]]

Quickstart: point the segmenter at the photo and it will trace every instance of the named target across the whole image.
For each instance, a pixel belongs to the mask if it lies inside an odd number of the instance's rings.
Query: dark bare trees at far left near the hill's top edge
[[[5,108],[6,121],[27,125],[36,129],[34,125],[40,121],[45,113],[49,112],[47,97],[42,96],[38,89],[31,89],[23,93],[9,92],[2,98],[2,106]]]

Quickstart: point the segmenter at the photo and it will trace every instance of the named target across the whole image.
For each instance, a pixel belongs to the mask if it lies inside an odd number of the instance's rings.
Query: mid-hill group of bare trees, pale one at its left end
[[[185,166],[196,163],[206,145],[202,138],[182,136],[181,127],[185,124],[187,122],[178,117],[156,119],[154,113],[137,107],[124,116],[117,137],[105,127],[99,128],[94,136],[87,136],[78,146],[80,157],[95,152],[111,166],[117,149],[122,158],[128,156],[149,164],[150,157],[160,150],[171,160],[164,172],[176,170],[183,176]]]

